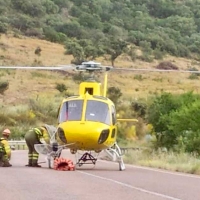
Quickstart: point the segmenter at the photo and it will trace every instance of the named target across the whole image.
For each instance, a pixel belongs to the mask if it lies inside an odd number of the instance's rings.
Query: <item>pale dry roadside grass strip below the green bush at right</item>
[[[200,174],[199,158],[187,153],[132,151],[124,156],[124,161],[139,166]]]

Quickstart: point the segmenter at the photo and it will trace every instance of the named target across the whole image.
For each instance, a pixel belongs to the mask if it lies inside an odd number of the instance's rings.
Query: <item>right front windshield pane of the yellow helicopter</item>
[[[110,125],[108,105],[101,101],[87,101],[85,119],[86,121],[102,122]]]

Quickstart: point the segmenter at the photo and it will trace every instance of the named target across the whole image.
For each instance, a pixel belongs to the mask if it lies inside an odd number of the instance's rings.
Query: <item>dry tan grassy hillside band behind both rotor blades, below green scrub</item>
[[[0,65],[13,66],[57,66],[69,64],[72,56],[65,55],[63,45],[47,42],[45,40],[30,39],[26,37],[15,38],[11,35],[0,37]],[[35,49],[41,48],[41,55],[35,54]],[[103,64],[109,65],[102,59]],[[164,60],[176,64],[179,69],[191,67],[199,68],[197,61],[184,58],[166,57]],[[118,67],[153,68],[161,61],[152,63],[136,60],[130,61],[128,57],[120,57],[116,60]],[[1,80],[8,80],[9,89],[2,96],[4,103],[19,104],[31,96],[56,94],[56,83],[64,83],[69,92],[77,94],[78,85],[72,81],[68,73],[28,70],[1,70]],[[123,99],[132,100],[148,98],[162,91],[183,93],[193,90],[199,92],[199,80],[189,79],[189,74],[181,73],[155,73],[155,72],[111,72],[109,74],[109,87],[119,87],[123,93]]]

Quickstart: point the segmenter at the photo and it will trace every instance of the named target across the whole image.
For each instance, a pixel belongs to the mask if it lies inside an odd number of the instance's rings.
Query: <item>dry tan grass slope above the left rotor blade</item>
[[[45,40],[33,38],[14,38],[2,35],[0,38],[0,65],[43,65],[56,66],[69,64],[72,57],[64,55],[65,49],[62,45]],[[41,48],[41,56],[35,54],[35,49]]]

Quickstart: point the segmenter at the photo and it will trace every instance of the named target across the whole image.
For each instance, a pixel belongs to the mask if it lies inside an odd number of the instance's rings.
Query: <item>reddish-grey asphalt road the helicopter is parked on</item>
[[[13,167],[0,168],[2,200],[200,200],[200,176],[99,160],[75,171],[25,167],[27,151],[12,152]],[[67,150],[62,157],[74,160]],[[40,161],[45,157],[40,155]]]

